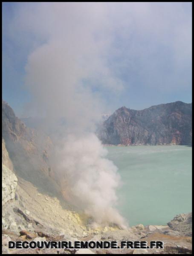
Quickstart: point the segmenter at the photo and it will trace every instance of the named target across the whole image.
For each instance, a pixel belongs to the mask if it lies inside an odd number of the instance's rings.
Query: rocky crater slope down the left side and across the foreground
[[[6,254],[191,253],[191,214],[176,216],[167,226],[92,228],[83,213],[69,205],[48,172],[52,143],[27,128],[3,102],[2,252]],[[165,250],[9,250],[9,241],[151,241]]]

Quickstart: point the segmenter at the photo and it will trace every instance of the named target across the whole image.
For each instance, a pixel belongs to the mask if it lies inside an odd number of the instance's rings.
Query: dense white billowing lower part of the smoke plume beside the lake
[[[69,135],[57,154],[61,158],[57,170],[65,197],[96,223],[124,227],[124,219],[114,208],[120,176],[117,167],[105,158],[107,151],[96,135]]]

